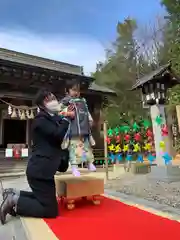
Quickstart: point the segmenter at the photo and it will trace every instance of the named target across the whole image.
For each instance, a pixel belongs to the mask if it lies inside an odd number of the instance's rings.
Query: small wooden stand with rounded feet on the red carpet
[[[91,198],[95,205],[101,203],[104,194],[104,180],[95,177],[56,177],[57,196],[65,202],[67,208],[75,208],[77,199]]]

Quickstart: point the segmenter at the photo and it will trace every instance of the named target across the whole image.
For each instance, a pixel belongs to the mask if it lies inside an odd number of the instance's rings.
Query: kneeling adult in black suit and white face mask
[[[2,224],[7,214],[38,218],[58,215],[54,175],[57,170],[68,168],[68,154],[60,146],[69,128],[69,119],[56,115],[59,103],[51,92],[39,92],[35,104],[40,112],[33,121],[33,146],[26,170],[32,192],[5,189],[0,207]],[[74,112],[69,111],[67,115],[73,117]]]

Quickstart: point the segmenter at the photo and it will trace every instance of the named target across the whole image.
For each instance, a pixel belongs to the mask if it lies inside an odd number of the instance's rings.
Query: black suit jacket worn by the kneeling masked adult
[[[37,179],[52,179],[58,170],[68,167],[67,152],[61,149],[69,122],[41,111],[32,124],[32,153],[26,174]],[[62,165],[62,167],[61,167]]]

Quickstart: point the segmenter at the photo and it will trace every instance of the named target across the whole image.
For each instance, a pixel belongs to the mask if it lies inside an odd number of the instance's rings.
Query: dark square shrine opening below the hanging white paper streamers
[[[3,147],[7,144],[26,143],[26,120],[3,120]]]

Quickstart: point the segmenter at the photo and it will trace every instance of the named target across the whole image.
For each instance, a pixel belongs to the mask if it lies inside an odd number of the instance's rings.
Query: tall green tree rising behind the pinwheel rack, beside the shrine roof
[[[127,18],[117,24],[117,38],[112,48],[107,51],[107,60],[101,63],[94,74],[98,84],[106,85],[117,93],[111,99],[106,116],[112,125],[119,122],[120,115],[126,113],[129,118],[142,115],[140,92],[130,91],[139,77],[139,66],[143,58],[138,56],[138,45],[134,35],[137,24],[134,19]]]

